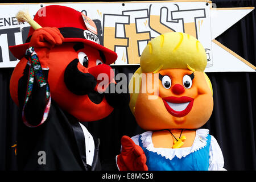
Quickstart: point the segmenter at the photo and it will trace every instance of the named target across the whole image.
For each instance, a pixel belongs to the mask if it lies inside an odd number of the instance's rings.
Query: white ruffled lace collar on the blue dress
[[[191,147],[183,148],[155,148],[152,142],[152,131],[146,131],[141,134],[142,146],[147,148],[147,150],[156,152],[158,155],[165,157],[166,159],[172,160],[175,156],[177,158],[182,158],[191,154],[207,145],[207,135],[209,130],[207,129],[197,129],[196,137]]]

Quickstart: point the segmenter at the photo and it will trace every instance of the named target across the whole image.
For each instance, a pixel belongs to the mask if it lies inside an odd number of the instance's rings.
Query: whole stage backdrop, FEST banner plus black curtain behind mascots
[[[124,4],[115,2],[103,3],[101,6],[98,3],[61,5],[73,7],[94,20],[99,28],[98,34],[102,36],[101,43],[118,52],[118,61],[116,65],[112,65],[115,74],[134,73],[139,66],[133,61],[138,61],[142,47],[148,40],[163,32],[190,31],[199,38],[207,48],[207,71],[212,81],[214,99],[212,117],[203,127],[209,129],[210,134],[214,135],[220,144],[226,169],[255,170],[256,14],[251,7],[255,7],[256,4],[253,0],[212,2],[214,7],[200,1]],[[44,7],[49,4],[42,5]],[[88,6],[90,8],[87,8]],[[15,170],[17,123],[22,121],[18,118],[18,108],[9,93],[9,82],[13,72],[13,68],[10,67],[14,67],[18,60],[9,54],[7,44],[20,44],[26,40],[25,32],[28,31],[28,25],[15,22],[16,11],[29,7],[32,16],[41,5],[1,4],[0,7],[0,169]],[[187,13],[190,13],[193,19],[184,18],[187,17]],[[210,30],[207,32],[209,27]],[[131,35],[135,30],[136,36]],[[106,35],[106,32],[111,32],[111,35]],[[108,40],[108,36],[113,38]],[[137,52],[129,48],[134,42],[137,42]],[[218,53],[214,53],[215,50]],[[229,62],[230,60],[232,62]],[[101,121],[89,123],[88,128],[100,138],[100,159],[104,169],[116,169],[115,155],[120,152],[120,139],[123,135],[133,137],[143,132],[128,106],[114,110],[109,117]]]

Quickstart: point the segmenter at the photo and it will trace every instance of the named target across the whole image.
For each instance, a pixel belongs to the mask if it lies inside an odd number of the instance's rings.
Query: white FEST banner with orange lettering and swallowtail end
[[[27,39],[30,25],[18,23],[16,13],[28,9],[33,17],[40,8],[56,4],[72,7],[94,21],[100,44],[118,54],[115,65],[139,64],[142,51],[152,38],[178,31],[195,36],[203,44],[208,61],[205,72],[255,72],[254,65],[215,40],[254,7],[218,9],[203,0],[2,4],[0,68],[15,67],[19,60],[8,46]],[[46,9],[42,8],[39,15],[47,16]]]

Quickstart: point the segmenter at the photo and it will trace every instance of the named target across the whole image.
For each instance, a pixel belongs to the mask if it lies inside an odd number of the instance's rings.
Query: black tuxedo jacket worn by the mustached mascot
[[[28,65],[19,79],[18,98],[20,121],[18,124],[17,161],[19,170],[100,170],[99,141],[95,137],[92,166],[86,164],[85,138],[79,121],[65,113],[52,100],[46,121],[38,127],[28,127],[22,122],[22,107],[28,82]],[[47,78],[48,71],[43,71]],[[51,88],[50,88],[51,89]],[[31,124],[42,119],[46,101],[46,86],[39,88],[34,81],[26,112]],[[93,136],[93,135],[92,135]]]

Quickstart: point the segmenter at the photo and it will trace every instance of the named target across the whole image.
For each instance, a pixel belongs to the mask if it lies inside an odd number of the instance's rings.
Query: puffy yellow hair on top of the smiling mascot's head
[[[204,72],[207,55],[202,44],[188,34],[169,32],[152,39],[141,55],[143,73],[155,72],[156,69],[181,68],[187,65],[196,71]]]

